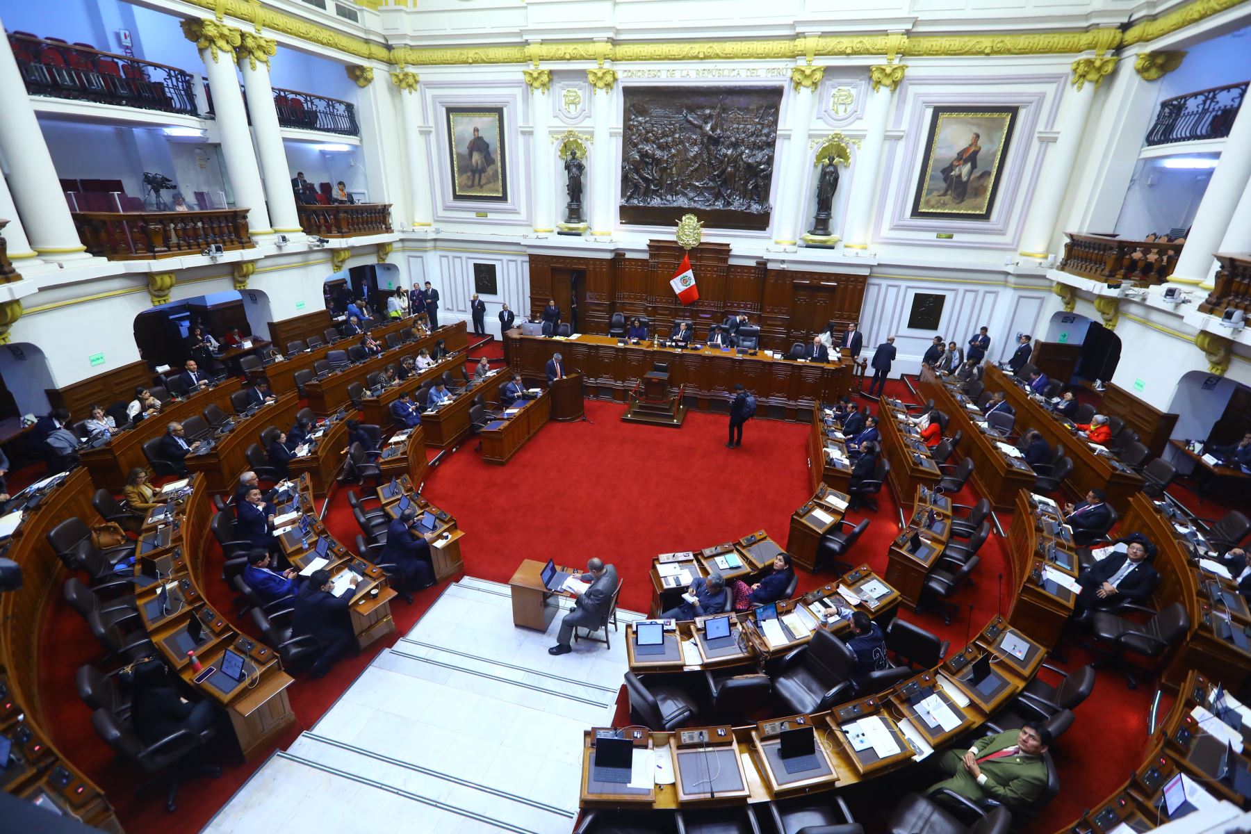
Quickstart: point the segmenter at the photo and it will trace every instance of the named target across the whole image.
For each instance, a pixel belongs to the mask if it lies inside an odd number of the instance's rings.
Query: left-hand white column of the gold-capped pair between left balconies
[[[234,50],[243,43],[243,33],[214,20],[184,20],[183,34],[199,48],[204,61],[235,208],[248,209],[248,231],[253,235],[270,235],[274,230],[269,225],[269,210],[265,208],[265,189],[251,146],[239,76],[235,75]]]

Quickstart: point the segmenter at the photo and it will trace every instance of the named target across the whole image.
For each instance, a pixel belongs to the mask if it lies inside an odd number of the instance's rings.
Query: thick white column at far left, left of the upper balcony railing
[[[61,196],[56,168],[44,144],[44,134],[35,119],[35,109],[26,94],[26,85],[21,81],[9,39],[0,38],[0,101],[4,101],[0,150],[9,160],[9,186],[21,214],[20,226],[25,229],[23,248],[26,251],[34,248],[45,260],[90,258],[74,229],[69,205]],[[4,210],[9,211],[8,206]],[[18,223],[16,214],[8,219]],[[5,240],[13,243],[8,234]]]

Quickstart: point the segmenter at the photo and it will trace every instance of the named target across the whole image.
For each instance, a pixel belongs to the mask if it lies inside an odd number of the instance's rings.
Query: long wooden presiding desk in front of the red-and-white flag
[[[729,391],[741,383],[759,401],[759,416],[806,420],[813,404],[836,400],[852,389],[852,363],[813,364],[773,359],[763,350],[742,355],[732,350],[673,350],[651,340],[618,344],[609,336],[582,334],[575,339],[504,334],[504,354],[514,373],[545,379],[547,363],[559,353],[564,365],[585,376],[587,394],[624,403],[627,394],[656,363],[669,366],[669,388],[686,390],[687,408],[726,411]]]

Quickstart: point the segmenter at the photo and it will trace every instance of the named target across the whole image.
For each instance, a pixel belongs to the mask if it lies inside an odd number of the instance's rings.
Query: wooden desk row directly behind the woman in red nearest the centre
[[[990,374],[992,366],[987,365],[986,368],[986,373]],[[951,436],[957,430],[965,433],[960,449],[956,451],[973,461],[972,478],[977,491],[988,499],[995,509],[1011,510],[1017,494],[1022,489],[1033,488],[1037,478],[1033,469],[1023,459],[1007,451],[1012,446],[1003,443],[1005,438],[983,428],[985,420],[981,409],[973,405],[972,400],[965,396],[958,388],[948,385],[932,368],[922,368],[917,391],[926,399],[933,400],[934,408],[947,415],[947,431],[943,434]],[[1016,403],[1012,405],[1015,408]],[[1051,418],[1047,420],[1050,421]],[[1016,430],[1020,433],[1032,425],[1030,418],[1018,410]],[[1050,440],[1048,443],[1053,444]]]

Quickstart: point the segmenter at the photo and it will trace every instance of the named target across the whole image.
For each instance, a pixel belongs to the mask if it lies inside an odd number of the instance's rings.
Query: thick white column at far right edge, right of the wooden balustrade
[[[1211,288],[1215,268],[1212,254],[1238,251],[1225,246],[1223,239],[1227,231],[1240,234],[1232,229],[1233,213],[1246,203],[1242,198],[1248,180],[1251,180],[1251,108],[1241,108],[1225,140],[1221,159],[1212,169],[1212,179],[1203,191],[1198,211],[1195,213],[1186,245],[1177,258],[1177,268],[1168,280],[1178,284],[1200,283],[1203,289]],[[1247,223],[1247,218],[1242,216],[1240,221]]]

